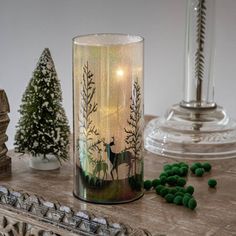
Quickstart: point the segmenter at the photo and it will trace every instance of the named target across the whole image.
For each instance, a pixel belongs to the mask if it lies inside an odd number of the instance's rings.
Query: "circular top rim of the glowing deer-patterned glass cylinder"
[[[110,40],[109,42],[102,42],[103,37],[120,37],[124,40],[124,42],[120,42],[119,40]],[[87,42],[86,42],[87,38]],[[89,42],[89,39],[95,39],[94,42]],[[80,39],[84,39],[84,42],[79,42]],[[101,41],[99,41],[100,39]],[[129,45],[135,43],[143,43],[144,37],[140,35],[132,35],[132,34],[124,34],[124,33],[97,33],[97,34],[84,34],[77,35],[72,38],[73,44],[81,45],[81,46],[118,46],[118,45]]]

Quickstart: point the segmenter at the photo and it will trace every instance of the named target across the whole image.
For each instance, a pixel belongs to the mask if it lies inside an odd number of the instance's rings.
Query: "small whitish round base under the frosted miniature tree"
[[[60,168],[60,163],[54,155],[47,155],[47,158],[39,155],[31,156],[29,166],[36,170],[56,170]]]

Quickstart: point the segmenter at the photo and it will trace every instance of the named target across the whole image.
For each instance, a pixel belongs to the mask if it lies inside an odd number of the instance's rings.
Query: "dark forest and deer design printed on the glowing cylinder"
[[[99,106],[95,102],[95,75],[89,69],[88,62],[83,66],[78,117],[79,133],[76,143],[78,154],[76,171],[79,178],[77,182],[79,185],[92,188],[93,194],[96,189],[103,189],[101,198],[108,195],[124,195],[125,199],[128,192],[141,191],[142,189],[143,118],[141,96],[141,87],[137,78],[132,84],[129,119],[123,128],[126,134],[125,147],[120,152],[115,152],[113,146],[116,145],[116,137],[111,137],[108,142],[105,141],[105,138],[101,136],[101,131],[95,125],[94,117],[96,117]],[[128,172],[126,179],[120,178],[121,165],[126,166]],[[129,186],[129,191],[123,189],[124,186]],[[104,189],[106,189],[105,192]]]

